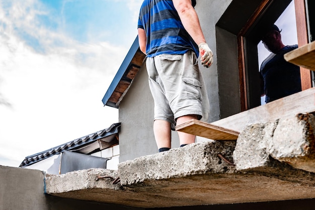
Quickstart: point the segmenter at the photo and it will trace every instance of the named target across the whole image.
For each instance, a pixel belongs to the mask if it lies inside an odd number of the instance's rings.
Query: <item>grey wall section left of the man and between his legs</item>
[[[145,65],[142,65],[119,105],[119,162],[157,152],[153,134],[153,108],[148,75]],[[172,132],[172,148],[174,147],[179,147],[176,132]]]

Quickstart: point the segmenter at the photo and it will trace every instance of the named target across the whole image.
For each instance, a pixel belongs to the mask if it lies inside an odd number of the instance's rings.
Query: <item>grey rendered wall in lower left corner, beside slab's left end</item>
[[[45,195],[44,177],[39,170],[0,166],[0,210],[142,209]]]

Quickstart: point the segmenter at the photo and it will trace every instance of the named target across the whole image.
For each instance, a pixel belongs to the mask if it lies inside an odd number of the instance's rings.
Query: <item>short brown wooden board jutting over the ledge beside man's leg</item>
[[[199,120],[190,120],[176,126],[176,131],[204,137],[212,140],[237,140],[239,132],[211,125]]]

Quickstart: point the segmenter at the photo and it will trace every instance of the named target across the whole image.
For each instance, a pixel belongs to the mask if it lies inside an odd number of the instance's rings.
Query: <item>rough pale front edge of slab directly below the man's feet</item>
[[[194,174],[233,173],[235,168],[217,156],[231,157],[235,142],[209,141],[190,144],[167,152],[156,153],[122,162],[118,174],[122,185],[146,180],[185,177]]]

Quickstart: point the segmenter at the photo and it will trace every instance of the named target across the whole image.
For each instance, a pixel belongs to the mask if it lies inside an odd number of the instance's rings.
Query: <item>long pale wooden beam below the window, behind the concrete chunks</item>
[[[299,113],[315,112],[315,87],[212,122],[211,125],[242,132],[247,125],[273,122]]]

